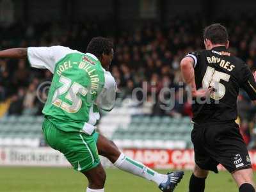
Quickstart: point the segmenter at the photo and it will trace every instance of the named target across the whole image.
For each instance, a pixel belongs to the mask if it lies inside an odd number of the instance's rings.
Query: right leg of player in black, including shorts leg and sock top
[[[222,126],[221,129],[227,129],[227,132],[221,140],[222,145],[218,147],[223,152],[219,153],[220,163],[232,174],[240,192],[254,192],[252,164],[239,126],[232,123]]]

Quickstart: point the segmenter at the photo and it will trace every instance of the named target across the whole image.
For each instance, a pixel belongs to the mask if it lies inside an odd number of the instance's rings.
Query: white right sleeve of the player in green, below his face
[[[97,105],[104,111],[111,111],[116,101],[116,81],[110,72],[104,72],[105,84],[102,92],[97,98]]]

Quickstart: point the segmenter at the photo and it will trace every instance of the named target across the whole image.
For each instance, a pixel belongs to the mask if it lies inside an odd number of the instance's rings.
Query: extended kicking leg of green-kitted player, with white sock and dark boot
[[[144,164],[125,156],[125,154],[120,152],[113,141],[108,140],[101,134],[99,134],[99,138],[97,138],[97,148],[99,154],[107,157],[116,168],[132,173],[133,175],[138,175],[144,179],[152,180],[156,182],[157,186],[159,186],[162,191],[168,188],[168,186],[174,189],[184,174],[183,172],[173,172],[168,175],[157,173]]]

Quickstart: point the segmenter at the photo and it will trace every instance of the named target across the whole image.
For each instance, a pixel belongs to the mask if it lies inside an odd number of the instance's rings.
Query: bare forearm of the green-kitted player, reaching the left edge
[[[13,48],[0,51],[0,58],[25,59],[27,57],[27,48]]]

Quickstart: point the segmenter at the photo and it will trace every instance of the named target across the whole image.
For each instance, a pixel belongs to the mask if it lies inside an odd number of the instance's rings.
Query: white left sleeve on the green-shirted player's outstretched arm
[[[53,74],[56,63],[72,52],[78,51],[63,46],[28,47],[28,60],[31,67],[47,68]]]

